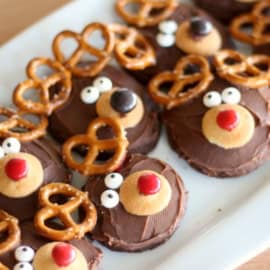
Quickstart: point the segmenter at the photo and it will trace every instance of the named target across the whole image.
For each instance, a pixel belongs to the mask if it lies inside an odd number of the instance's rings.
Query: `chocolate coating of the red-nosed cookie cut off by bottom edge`
[[[32,222],[24,222],[20,224],[21,228],[21,243],[19,245],[27,245],[37,251],[41,246],[50,242],[41,236],[39,236],[34,229]],[[88,262],[89,270],[99,269],[98,265],[102,258],[102,252],[94,247],[89,240],[83,238],[81,240],[72,240],[69,241],[70,244],[77,247],[85,256],[86,261]],[[16,249],[16,248],[15,248]],[[17,261],[14,257],[14,250],[11,250],[3,255],[0,255],[0,261],[10,269],[13,269]]]

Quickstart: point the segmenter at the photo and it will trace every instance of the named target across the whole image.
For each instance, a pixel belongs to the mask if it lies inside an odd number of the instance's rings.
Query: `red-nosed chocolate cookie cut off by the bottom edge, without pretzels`
[[[86,238],[67,243],[50,242],[35,232],[31,222],[20,224],[20,230],[19,245],[0,255],[0,262],[9,269],[43,270],[47,268],[56,270],[63,269],[64,265],[64,269],[67,270],[96,270],[99,268],[102,252]],[[70,260],[69,255],[72,257]],[[46,265],[43,265],[44,261],[46,261]],[[46,267],[42,268],[42,265]]]

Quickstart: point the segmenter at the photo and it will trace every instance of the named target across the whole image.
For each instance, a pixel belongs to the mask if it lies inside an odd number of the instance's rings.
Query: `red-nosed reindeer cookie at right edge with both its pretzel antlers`
[[[187,58],[192,57],[198,56]],[[182,66],[182,72],[186,69],[187,73],[169,80],[173,87],[176,85],[174,92],[178,91],[184,101],[167,106],[163,112],[172,148],[193,167],[210,176],[233,177],[253,171],[270,157],[270,58],[221,51],[214,59],[217,73],[211,75],[212,80],[203,86],[203,76],[184,88],[183,82],[191,74],[198,77],[205,73],[205,69],[187,58],[178,65],[187,61],[193,69],[187,68],[188,64],[186,68]],[[156,80],[163,76],[158,75],[150,83],[156,101],[159,101]],[[171,91],[167,96],[164,94],[168,100],[173,100]]]

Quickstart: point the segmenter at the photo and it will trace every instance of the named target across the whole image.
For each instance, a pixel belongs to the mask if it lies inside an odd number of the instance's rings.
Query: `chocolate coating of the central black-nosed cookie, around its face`
[[[145,107],[143,119],[135,127],[126,129],[129,140],[128,151],[148,153],[158,141],[160,124],[156,107],[150,100],[146,89],[126,72],[112,66],[107,66],[99,76],[109,77],[113,86],[128,88],[142,98]],[[63,142],[71,136],[85,133],[91,120],[97,117],[96,104],[84,104],[80,99],[81,90],[92,85],[94,79],[74,77],[72,93],[68,102],[50,117],[49,128],[58,141]]]

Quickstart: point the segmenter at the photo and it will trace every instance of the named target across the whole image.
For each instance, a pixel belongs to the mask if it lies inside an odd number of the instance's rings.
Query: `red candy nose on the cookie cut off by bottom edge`
[[[52,257],[59,267],[66,267],[75,260],[76,252],[71,245],[59,243],[53,248]]]

